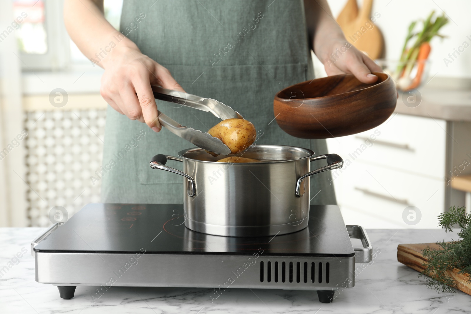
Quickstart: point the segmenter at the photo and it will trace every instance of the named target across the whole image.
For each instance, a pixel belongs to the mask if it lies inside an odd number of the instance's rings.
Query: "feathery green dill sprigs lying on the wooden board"
[[[455,292],[457,289],[455,280],[448,275],[449,270],[460,269],[458,274],[470,277],[471,274],[471,214],[466,213],[466,208],[450,208],[438,217],[439,226],[448,231],[458,226],[459,240],[450,242],[437,242],[441,250],[432,250],[430,247],[422,250],[423,257],[428,261],[423,264],[425,269],[418,277],[426,278],[427,287],[438,292]],[[468,280],[471,282],[471,278]]]

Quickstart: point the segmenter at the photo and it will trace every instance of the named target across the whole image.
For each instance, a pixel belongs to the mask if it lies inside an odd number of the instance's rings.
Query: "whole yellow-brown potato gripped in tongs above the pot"
[[[223,120],[212,127],[208,133],[212,137],[219,138],[233,154],[249,148],[257,136],[253,124],[244,119]]]

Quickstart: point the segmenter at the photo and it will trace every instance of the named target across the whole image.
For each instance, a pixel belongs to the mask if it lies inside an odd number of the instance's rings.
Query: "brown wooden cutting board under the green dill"
[[[430,246],[432,250],[440,250],[436,243],[417,243],[417,244],[399,244],[398,245],[398,262],[421,272],[425,269],[424,264],[427,259],[422,256],[422,250]],[[471,295],[471,283],[469,278],[463,274],[458,274],[459,269],[455,268],[448,271],[448,275],[455,279],[455,284],[459,290]]]

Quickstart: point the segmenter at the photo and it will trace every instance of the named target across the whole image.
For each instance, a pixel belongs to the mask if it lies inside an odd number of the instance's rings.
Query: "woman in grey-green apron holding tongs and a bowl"
[[[373,83],[371,72],[381,71],[347,43],[326,0],[124,0],[121,32],[106,21],[103,0],[66,0],[64,17],[72,40],[105,69],[104,202],[183,202],[182,178],[148,165],[157,153],[176,155],[192,146],[161,128],[157,107],[195,129],[218,123],[211,113],[156,102],[151,85],[231,106],[255,125],[258,144],[324,154],[325,140],[291,137],[278,127],[275,93],[314,79],[310,49],[328,75],[351,72]],[[328,172],[311,179],[311,203],[336,203],[330,181]]]

